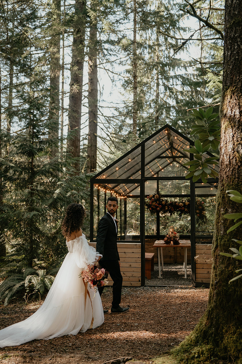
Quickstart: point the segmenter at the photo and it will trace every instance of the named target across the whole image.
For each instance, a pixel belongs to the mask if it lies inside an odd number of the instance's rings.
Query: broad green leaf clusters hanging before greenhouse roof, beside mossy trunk
[[[218,173],[213,169],[217,165],[217,157],[207,157],[207,152],[212,147],[217,149],[220,143],[220,127],[219,121],[216,119],[218,114],[212,114],[213,108],[209,107],[206,112],[202,108],[193,109],[193,116],[196,118],[198,125],[193,125],[191,134],[198,134],[199,139],[195,141],[194,146],[188,149],[189,153],[194,154],[194,160],[184,163],[189,166],[186,178],[192,178],[193,182],[202,179],[203,183],[208,181],[208,177],[216,178]],[[187,150],[186,150],[187,151]]]

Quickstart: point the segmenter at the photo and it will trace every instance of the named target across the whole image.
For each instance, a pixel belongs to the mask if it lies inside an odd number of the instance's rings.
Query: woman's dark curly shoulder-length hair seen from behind
[[[74,231],[79,231],[86,216],[84,207],[79,203],[71,203],[66,209],[66,215],[62,222],[62,234],[70,237]]]

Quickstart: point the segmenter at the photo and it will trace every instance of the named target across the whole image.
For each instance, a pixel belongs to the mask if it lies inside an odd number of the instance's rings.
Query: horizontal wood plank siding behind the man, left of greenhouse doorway
[[[120,270],[123,276],[123,286],[141,285],[141,244],[140,243],[117,243],[120,257]],[[96,248],[95,242],[89,245]],[[113,281],[108,276],[108,285]]]

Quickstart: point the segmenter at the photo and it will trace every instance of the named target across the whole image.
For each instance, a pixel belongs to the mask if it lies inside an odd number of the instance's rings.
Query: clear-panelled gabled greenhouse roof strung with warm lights
[[[145,146],[145,178],[150,178],[157,176],[157,173],[162,177],[163,170],[172,162],[176,162],[180,166],[188,162],[190,160],[188,149],[190,145],[194,145],[194,142],[166,124],[97,173],[91,178],[91,181],[95,180],[95,183],[102,185],[102,183],[105,184],[106,179],[116,179],[117,183],[108,183],[105,188],[114,190],[121,195],[130,194],[132,190],[137,188],[137,183],[132,182],[132,179],[141,178],[142,145]],[[205,153],[205,157],[211,156],[213,156],[211,153]],[[184,168],[185,177],[185,171],[188,170],[188,167],[182,166],[182,168]],[[218,166],[214,166],[214,170],[218,171]],[[130,183],[122,183],[122,179],[130,179],[131,181]]]

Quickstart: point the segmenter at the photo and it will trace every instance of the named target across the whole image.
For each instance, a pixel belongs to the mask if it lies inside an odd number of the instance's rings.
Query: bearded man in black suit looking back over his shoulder
[[[97,246],[96,250],[102,255],[99,264],[106,269],[114,281],[112,285],[112,307],[111,312],[125,312],[129,307],[120,307],[121,290],[123,277],[120,272],[120,259],[117,248],[118,224],[115,219],[115,213],[118,209],[118,199],[108,197],[106,205],[107,213],[98,223]],[[103,287],[98,287],[101,296]],[[107,312],[106,310],[104,313]]]

